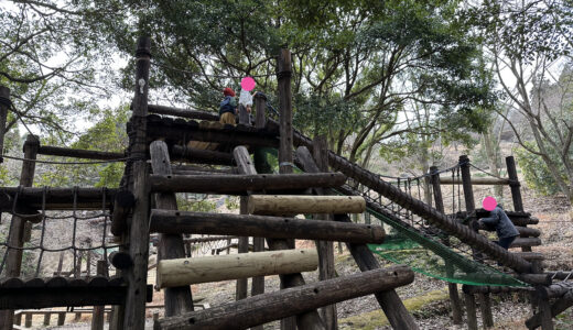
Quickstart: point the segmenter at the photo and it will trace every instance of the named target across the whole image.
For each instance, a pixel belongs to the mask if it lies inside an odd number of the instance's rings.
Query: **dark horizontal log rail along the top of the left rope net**
[[[18,204],[28,209],[42,209],[44,188],[35,187],[1,187],[0,210],[11,211],[12,202],[18,194]],[[74,194],[77,194],[76,208],[78,210],[101,209],[104,194],[106,195],[106,208],[112,205],[117,189],[101,188],[47,188],[45,190],[46,210],[69,210],[74,207]]]

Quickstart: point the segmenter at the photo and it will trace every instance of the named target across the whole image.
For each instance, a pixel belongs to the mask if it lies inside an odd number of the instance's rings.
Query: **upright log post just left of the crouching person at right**
[[[464,188],[464,199],[466,205],[466,211],[469,215],[471,212],[475,211],[475,199],[474,199],[474,190],[472,188],[472,174],[469,168],[469,158],[466,155],[460,156],[460,167],[462,169],[462,187]],[[471,222],[471,227],[474,228],[474,223],[477,221],[477,219],[473,219]],[[483,262],[482,254],[477,251],[474,251],[474,258],[478,262]],[[468,328],[477,329],[477,322],[475,324],[469,324],[471,321],[474,321],[475,318],[469,316],[471,312],[471,305],[472,300],[474,299],[474,295],[464,295],[466,298],[466,308],[467,308],[467,322]],[[479,309],[482,311],[482,320],[484,322],[485,328],[494,327],[494,316],[491,315],[491,302],[489,301],[489,295],[488,294],[477,294],[477,297],[479,298]],[[473,302],[475,305],[475,301]],[[474,306],[475,311],[475,306]]]

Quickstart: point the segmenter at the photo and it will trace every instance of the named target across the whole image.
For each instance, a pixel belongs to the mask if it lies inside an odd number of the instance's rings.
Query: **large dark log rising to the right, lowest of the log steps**
[[[154,329],[245,329],[412,280],[413,272],[406,266],[375,270],[161,319]]]

